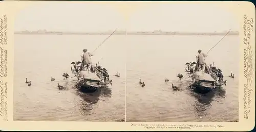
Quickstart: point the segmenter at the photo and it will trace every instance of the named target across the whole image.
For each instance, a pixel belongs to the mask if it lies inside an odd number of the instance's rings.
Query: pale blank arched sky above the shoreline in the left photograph
[[[51,31],[125,30],[122,15],[108,5],[59,2],[39,4],[20,11],[15,31],[46,29]]]

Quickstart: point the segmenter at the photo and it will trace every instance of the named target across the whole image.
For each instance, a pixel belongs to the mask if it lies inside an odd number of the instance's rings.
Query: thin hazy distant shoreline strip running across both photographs
[[[41,35],[110,35],[111,33],[65,33],[65,32],[14,32],[14,34],[41,34]],[[225,35],[226,33],[178,33],[178,32],[165,32],[165,33],[151,33],[151,32],[127,32],[127,35]],[[125,35],[125,32],[122,33],[113,33],[113,35]],[[238,32],[230,32],[227,35],[239,35]]]

